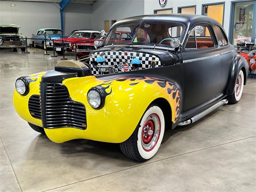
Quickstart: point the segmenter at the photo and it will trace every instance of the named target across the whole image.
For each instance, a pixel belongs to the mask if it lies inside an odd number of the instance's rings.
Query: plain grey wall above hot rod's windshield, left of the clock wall
[[[143,14],[144,0],[98,0],[92,5],[92,28],[102,30],[105,20],[109,20],[111,26],[111,20]]]

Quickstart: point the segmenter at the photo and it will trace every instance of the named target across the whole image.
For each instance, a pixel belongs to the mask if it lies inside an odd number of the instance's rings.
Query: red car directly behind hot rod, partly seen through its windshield
[[[104,33],[104,35],[103,35]],[[101,41],[103,42],[106,37],[106,32],[101,32],[98,36],[88,42],[78,42],[76,44],[76,54],[77,56],[88,56],[90,52],[95,50],[94,41]],[[116,40],[115,42],[130,42],[132,40],[132,34],[128,31],[116,31]],[[73,51],[75,52],[74,46],[72,46]]]

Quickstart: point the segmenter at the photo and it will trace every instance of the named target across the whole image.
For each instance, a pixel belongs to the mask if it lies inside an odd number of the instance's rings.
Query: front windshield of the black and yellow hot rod
[[[184,30],[184,25],[177,22],[141,21],[120,24],[108,33],[104,44],[162,44],[170,47],[172,38],[182,41]]]

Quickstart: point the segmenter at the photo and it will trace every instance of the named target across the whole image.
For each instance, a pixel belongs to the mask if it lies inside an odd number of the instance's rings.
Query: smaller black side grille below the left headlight
[[[32,117],[41,119],[40,95],[32,95],[29,98],[28,110]]]

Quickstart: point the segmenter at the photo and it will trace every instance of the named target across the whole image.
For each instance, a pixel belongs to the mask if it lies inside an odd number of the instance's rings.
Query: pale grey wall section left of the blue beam
[[[0,24],[9,23],[21,26],[19,32],[31,37],[39,28],[60,28],[60,12],[52,3],[0,0]]]

